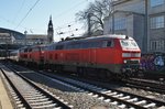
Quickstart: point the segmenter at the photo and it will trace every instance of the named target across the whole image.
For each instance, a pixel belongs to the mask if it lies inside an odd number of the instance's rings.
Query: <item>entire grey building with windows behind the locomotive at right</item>
[[[142,53],[165,52],[165,0],[118,0],[105,19],[103,34],[125,34]]]

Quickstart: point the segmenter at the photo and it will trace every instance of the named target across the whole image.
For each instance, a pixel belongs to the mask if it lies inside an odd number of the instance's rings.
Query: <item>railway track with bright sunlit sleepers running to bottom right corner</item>
[[[44,75],[50,77],[50,75],[45,73]],[[91,95],[92,97],[98,97],[98,99],[102,99],[112,105],[117,105],[120,108],[158,109],[165,106],[164,101],[154,100],[151,98],[129,94],[129,92],[117,90],[117,89],[110,89],[110,88],[97,86],[94,84],[88,84],[86,81],[74,80],[70,78],[65,78],[65,77],[59,77],[59,76],[54,76],[53,78],[62,80],[69,85],[76,86],[80,90],[86,90],[88,95]]]

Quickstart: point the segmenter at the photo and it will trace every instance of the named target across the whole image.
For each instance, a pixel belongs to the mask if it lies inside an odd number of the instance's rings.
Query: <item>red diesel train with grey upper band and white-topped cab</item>
[[[58,73],[116,78],[138,75],[140,59],[141,50],[133,37],[108,34],[23,47],[16,61]]]

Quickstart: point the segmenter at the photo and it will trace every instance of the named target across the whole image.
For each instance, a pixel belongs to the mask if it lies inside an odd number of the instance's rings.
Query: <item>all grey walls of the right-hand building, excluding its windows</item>
[[[147,14],[145,14],[145,0],[119,0],[114,4],[114,19],[127,18],[127,29],[118,30],[116,33],[127,34],[133,36],[140,45],[142,52],[157,52],[151,51],[152,41],[165,42],[165,24],[162,29],[151,29],[151,18],[164,17],[165,22],[165,0],[164,4],[151,7],[151,0],[147,0]],[[121,12],[120,12],[121,11]],[[123,13],[123,14],[121,14]],[[147,15],[147,31],[145,30],[145,15]],[[111,33],[112,17],[105,21],[103,34]],[[147,32],[147,35],[146,35]],[[165,46],[165,45],[164,45]],[[165,47],[161,50],[165,53]]]

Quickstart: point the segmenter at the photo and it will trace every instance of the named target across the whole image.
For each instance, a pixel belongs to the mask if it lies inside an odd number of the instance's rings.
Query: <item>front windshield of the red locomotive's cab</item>
[[[120,40],[122,48],[139,48],[134,40]]]

